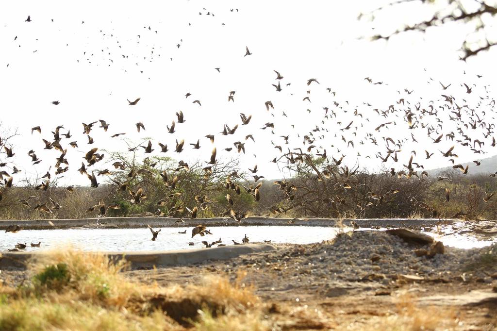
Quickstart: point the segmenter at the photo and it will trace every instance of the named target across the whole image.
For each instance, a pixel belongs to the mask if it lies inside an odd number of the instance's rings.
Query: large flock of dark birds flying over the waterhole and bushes
[[[206,11],[206,9],[204,11]],[[214,13],[211,12],[201,11],[199,14],[214,16]],[[32,20],[30,16],[26,19],[26,22],[33,21],[34,20]],[[82,24],[84,24],[84,21]],[[153,29],[149,26],[146,27],[146,30],[152,32]],[[103,35],[106,35],[105,32],[102,33]],[[157,33],[157,31],[155,31],[155,33]],[[112,34],[108,37],[114,38]],[[140,39],[140,35],[137,35],[137,38]],[[139,40],[137,42],[139,43]],[[181,44],[178,43],[177,47],[179,48],[180,46]],[[119,48],[120,47],[121,46],[119,46]],[[102,50],[102,52],[105,51]],[[151,52],[153,53],[154,51],[152,50]],[[107,53],[109,56],[111,55],[110,52]],[[87,55],[85,53],[84,55],[88,56],[86,59],[87,61],[90,61],[93,56],[93,54]],[[243,52],[240,54],[243,58],[252,55],[253,53],[250,52],[248,47],[246,47],[245,54]],[[122,55],[123,59],[128,59],[129,56],[130,55]],[[147,59],[145,58],[145,60]],[[151,55],[149,61],[152,60],[153,56]],[[220,68],[215,68],[215,70],[218,74],[221,73]],[[282,75],[279,71],[274,70],[274,78],[271,82],[267,83],[268,88],[272,85],[274,87],[273,93],[285,93],[284,90],[288,89],[292,84],[292,82],[284,80],[285,76],[286,75]],[[480,75],[476,77],[476,79],[480,78]],[[476,81],[475,78],[468,80]],[[210,146],[215,145],[220,135],[234,137],[233,143],[230,146],[223,146],[223,150],[227,153],[233,153],[236,156],[237,154],[245,154],[249,149],[248,146],[250,142],[252,148],[254,148],[253,144],[257,139],[257,135],[254,132],[257,132],[258,130],[267,130],[265,132],[270,132],[271,137],[274,137],[270,140],[270,148],[275,149],[277,155],[272,160],[264,160],[265,163],[273,163],[278,167],[279,165],[298,165],[307,164],[309,160],[320,157],[326,160],[326,162],[314,169],[316,172],[315,179],[323,181],[334,178],[337,182],[337,186],[343,190],[350,189],[354,184],[357,184],[354,182],[353,178],[354,171],[349,170],[348,166],[345,165],[347,159],[355,157],[355,151],[358,150],[357,146],[364,145],[362,149],[369,151],[369,155],[365,156],[367,159],[374,159],[379,164],[394,164],[388,172],[391,176],[396,176],[399,179],[403,177],[408,179],[414,177],[420,179],[423,176],[427,177],[428,172],[424,169],[422,161],[431,158],[438,159],[438,165],[440,166],[451,165],[454,169],[459,169],[462,174],[468,174],[471,172],[471,167],[468,165],[463,166],[457,162],[458,154],[471,152],[474,155],[482,155],[489,152],[492,148],[494,148],[495,151],[496,101],[490,96],[489,85],[484,85],[484,90],[481,91],[479,90],[480,86],[476,83],[462,82],[457,86],[452,83],[437,83],[432,78],[429,78],[427,81],[428,84],[433,83],[434,85],[438,85],[437,87],[433,87],[439,89],[438,98],[432,100],[424,100],[421,96],[414,98],[411,96],[414,91],[405,88],[398,91],[399,97],[397,100],[392,102],[388,107],[383,108],[375,107],[369,102],[362,102],[362,104],[354,105],[352,101],[341,100],[337,97],[339,92],[336,92],[331,87],[324,87],[316,78],[310,78],[306,82],[297,83],[306,86],[305,90],[299,91],[299,93],[302,93],[298,97],[299,100],[300,97],[302,97],[302,102],[306,104],[306,106],[299,110],[299,113],[290,114],[290,112],[288,112],[287,114],[285,110],[279,109],[278,105],[273,103],[273,101],[261,100],[260,111],[248,115],[240,113],[240,122],[234,125],[221,123],[223,126],[221,129],[222,131],[219,134],[207,134],[188,143],[185,143],[184,139],[175,139],[175,146],[170,147],[171,150],[169,150],[167,144],[163,144],[159,140],[153,141],[153,139],[150,139],[143,145],[140,144],[137,147],[129,148],[129,151],[134,153],[141,152],[144,157],[146,156],[147,160],[150,161],[155,155],[170,155],[170,153],[174,152],[174,157],[179,157],[181,153],[188,151],[188,149],[204,150],[207,148],[209,150],[209,160],[204,162],[203,169],[206,178],[209,178],[210,176],[213,176],[213,167],[219,162],[217,147]],[[363,82],[357,83],[379,86],[387,85],[387,83],[383,81],[376,81],[370,77],[366,77]],[[295,89],[292,91],[296,92]],[[227,101],[224,102],[235,103],[236,95],[238,95],[236,93],[236,90],[229,91],[229,94],[227,93]],[[311,107],[310,105],[312,104],[313,95],[315,93],[325,93],[329,103],[317,108],[308,108]],[[476,101],[472,102],[467,96],[473,97],[475,93],[480,94]],[[202,107],[201,100],[192,100],[192,98],[194,98],[192,96],[193,94],[194,93],[192,92],[186,92],[186,94],[183,95],[184,99],[188,101],[191,100],[193,104]],[[188,99],[190,96],[192,96],[192,98]],[[289,93],[287,96],[289,98],[294,97],[294,93]],[[128,99],[127,102],[129,107],[139,107],[140,100],[141,98],[137,97]],[[47,100],[47,102],[51,102],[53,107],[57,107],[64,102],[64,100]],[[298,105],[298,107],[301,106]],[[314,123],[313,127],[309,128],[309,130],[297,131],[295,130],[295,124],[291,124],[290,127],[279,127],[279,122],[283,121],[284,118],[288,118],[289,114],[290,116],[294,116],[294,119],[298,122],[303,116],[307,116],[306,112],[313,114],[321,113],[321,115],[318,115],[319,120]],[[252,116],[253,118],[265,118],[262,120],[262,122],[265,122],[262,127],[254,126]],[[183,113],[183,111],[178,110],[175,113],[175,118],[166,121],[167,123],[170,123],[170,125],[165,125],[165,132],[174,135],[179,124],[186,125],[184,123],[187,118],[188,121],[195,120],[192,114]],[[146,122],[130,124],[130,127],[131,125],[136,127],[138,133],[144,134],[146,131]],[[46,173],[41,177],[41,182],[34,187],[34,189],[40,191],[41,194],[38,196],[30,196],[29,198],[22,199],[18,202],[31,211],[38,211],[46,214],[54,214],[57,210],[64,208],[64,206],[50,196],[50,183],[54,177],[57,178],[57,176],[61,176],[67,171],[80,172],[81,175],[88,178],[88,184],[92,188],[97,188],[100,185],[101,180],[99,178],[111,175],[116,171],[126,171],[128,173],[127,177],[130,178],[130,180],[140,176],[155,176],[152,171],[146,168],[138,170],[128,169],[125,166],[125,163],[119,160],[112,163],[113,169],[109,170],[108,168],[104,168],[104,164],[109,160],[106,159],[105,154],[102,153],[98,147],[92,147],[94,146],[93,144],[95,144],[95,141],[90,135],[92,135],[96,129],[103,130],[104,133],[107,133],[109,127],[112,127],[112,124],[104,119],[95,119],[91,122],[82,123],[82,126],[82,134],[78,134],[79,138],[75,139],[71,130],[62,124],[55,126],[55,128],[42,128],[40,125],[35,125],[31,128],[31,135],[45,135],[48,131],[48,136],[50,137],[44,136],[43,138],[40,138],[39,146],[35,146],[29,151],[22,152],[19,152],[19,148],[12,146],[9,142],[2,141],[0,137],[0,147],[3,150],[0,155],[2,158],[0,159],[0,180],[2,181],[2,185],[0,186],[0,201],[4,196],[8,195],[8,189],[14,185],[13,179],[21,172],[15,163],[15,157],[17,156],[27,155],[31,159],[32,166],[44,165],[48,167]],[[241,127],[247,127],[254,131],[240,136],[239,132]],[[301,130],[298,125],[297,128]],[[124,131],[125,129],[122,131],[119,130],[113,134],[109,133],[108,138],[122,139],[126,135],[126,132]],[[201,141],[205,139],[210,143],[208,147],[205,147],[204,143]],[[421,139],[423,139],[423,142],[418,142],[418,140],[421,141]],[[426,143],[425,141],[429,143]],[[446,146],[446,148],[438,148],[438,146],[441,145]],[[417,146],[418,149],[406,151],[407,146]],[[78,148],[82,148],[85,151],[81,167],[76,168],[77,166],[71,166],[70,170],[68,155],[72,153],[71,149],[74,150]],[[55,162],[42,161],[38,158],[38,149],[53,151]],[[344,151],[347,151],[347,153],[344,153]],[[357,152],[357,156],[361,156],[359,152]],[[404,158],[406,164],[400,162],[402,158]],[[350,162],[353,162],[353,160],[350,160]],[[474,166],[480,165],[478,160],[473,162],[475,164]],[[154,167],[154,164],[151,166]],[[189,166],[186,162],[179,161],[176,171],[189,171]],[[249,177],[241,175],[242,172],[248,173]],[[490,173],[490,175],[496,177],[497,171]],[[262,178],[265,177],[258,172],[258,166],[255,164],[254,166],[247,166],[247,169],[240,169],[240,174],[239,171],[234,171],[225,178],[218,179],[220,182],[223,182],[226,189],[231,190],[232,194],[239,195],[241,194],[241,191],[245,190],[255,201],[259,201],[262,185],[260,180]],[[175,190],[181,186],[178,176],[173,176],[170,172],[168,173],[166,170],[163,170],[160,173],[160,179],[163,184],[170,189],[171,195],[177,194]],[[447,177],[438,177],[437,179],[450,180]],[[129,182],[118,182],[115,180],[109,180],[107,182],[110,185],[115,185],[117,191],[128,191],[129,199],[133,204],[140,204],[142,200],[147,199],[147,192],[139,186],[130,187]],[[294,199],[298,188],[290,180],[278,180],[274,181],[274,184],[278,185],[286,199]],[[75,185],[68,185],[66,190],[68,193],[73,192],[75,190]],[[395,193],[397,192],[392,190],[391,192],[383,192],[382,194],[385,196]],[[240,222],[242,219],[248,217],[248,213],[247,211],[237,210],[236,206],[234,206],[235,203],[232,194],[226,194],[225,203],[228,208],[223,216],[230,217],[233,220]],[[362,207],[378,203],[378,195],[371,192],[371,195],[368,197],[367,201],[364,201]],[[488,202],[493,195],[494,193],[489,192],[484,201]],[[337,205],[343,204],[342,197],[339,195],[336,196],[336,199],[334,197],[327,198],[330,199],[330,204],[333,206],[332,208],[338,209]],[[166,196],[157,201],[157,206],[165,206],[169,199],[170,196]],[[195,200],[197,203],[195,206],[171,208],[167,213],[158,209],[158,212],[155,215],[190,217],[194,219],[197,217],[199,208],[205,210],[210,204],[214,203],[205,195],[196,196]],[[445,191],[445,200],[450,200],[450,190],[448,188]],[[423,202],[420,202],[420,206],[427,209],[429,208],[429,206]],[[106,215],[106,209],[108,208],[118,209],[119,205],[115,203],[99,203],[89,207],[87,212],[95,213],[99,217],[102,217]],[[282,213],[283,210],[280,207],[273,206],[270,208],[269,212],[278,215]],[[153,234],[152,240],[155,241],[161,230],[155,231],[150,226],[149,228]],[[14,226],[12,229],[7,229],[6,232],[15,233],[19,230],[20,228],[17,229]],[[192,238],[197,234],[204,236],[205,234],[209,234],[209,232],[204,226],[199,225],[193,228]],[[248,242],[247,236],[243,240],[243,243],[246,242]],[[210,244],[208,242],[203,243],[206,247],[222,245],[220,241],[212,242]],[[235,243],[235,245],[236,244],[238,243]],[[19,248],[22,249],[22,247]]]

